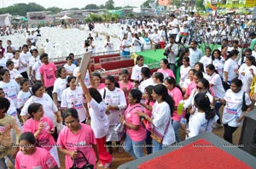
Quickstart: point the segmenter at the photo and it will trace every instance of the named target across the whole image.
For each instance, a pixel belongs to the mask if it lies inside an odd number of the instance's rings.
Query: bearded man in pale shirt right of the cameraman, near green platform
[[[192,68],[195,67],[195,63],[202,57],[201,49],[197,48],[197,42],[191,41],[189,48],[189,63]]]

